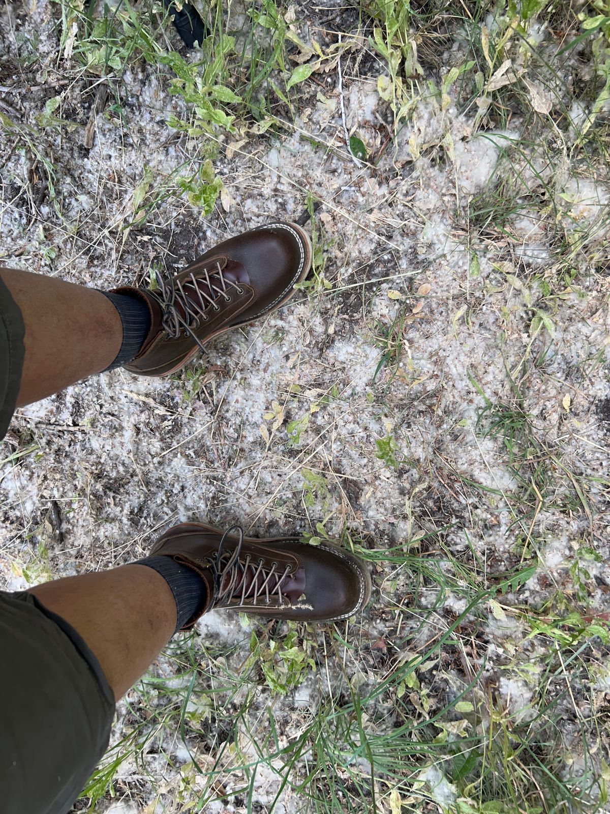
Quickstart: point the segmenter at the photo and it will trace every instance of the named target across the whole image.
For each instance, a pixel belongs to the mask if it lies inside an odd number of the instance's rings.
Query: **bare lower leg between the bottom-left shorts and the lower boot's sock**
[[[142,565],[68,576],[31,593],[85,639],[115,698],[142,676],[176,628],[168,583]]]

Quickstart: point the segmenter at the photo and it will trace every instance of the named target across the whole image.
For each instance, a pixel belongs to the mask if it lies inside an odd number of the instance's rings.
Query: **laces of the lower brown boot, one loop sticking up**
[[[224,552],[224,542],[235,530],[238,536],[237,545],[232,553]],[[240,605],[243,605],[246,599],[255,605],[260,604],[263,597],[266,605],[269,605],[272,599],[277,599],[282,604],[284,594],[281,593],[281,584],[290,571],[290,565],[287,565],[282,573],[277,562],[272,562],[271,568],[265,568],[264,560],[253,559],[251,554],[246,554],[242,561],[240,558],[242,545],[242,527],[232,526],[224,532],[216,557],[208,561],[214,579],[212,605],[229,606],[235,597],[239,597]],[[248,576],[251,576],[251,582],[248,582]]]

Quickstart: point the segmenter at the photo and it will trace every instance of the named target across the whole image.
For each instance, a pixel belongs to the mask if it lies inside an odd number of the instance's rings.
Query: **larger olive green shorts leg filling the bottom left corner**
[[[106,751],[115,699],[85,641],[0,592],[0,811],[67,814]]]

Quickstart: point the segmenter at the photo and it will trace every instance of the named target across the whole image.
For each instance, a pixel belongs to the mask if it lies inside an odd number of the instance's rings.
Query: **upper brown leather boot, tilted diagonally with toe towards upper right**
[[[312,266],[312,244],[294,223],[271,223],[209,249],[158,288],[121,287],[150,309],[150,331],[124,365],[143,376],[167,376],[227,330],[280,308]]]

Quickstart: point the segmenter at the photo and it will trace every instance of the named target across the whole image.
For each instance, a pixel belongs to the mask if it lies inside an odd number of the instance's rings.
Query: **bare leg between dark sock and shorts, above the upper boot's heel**
[[[19,406],[99,373],[115,360],[123,339],[120,316],[99,291],[15,269],[2,269],[2,280],[25,323]]]

